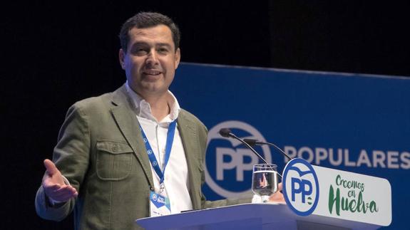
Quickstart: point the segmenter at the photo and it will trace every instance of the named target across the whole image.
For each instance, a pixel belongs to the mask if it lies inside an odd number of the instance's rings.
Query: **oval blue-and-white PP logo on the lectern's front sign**
[[[299,216],[312,214],[319,202],[319,182],[312,165],[295,158],[283,172],[283,194],[287,205]]]

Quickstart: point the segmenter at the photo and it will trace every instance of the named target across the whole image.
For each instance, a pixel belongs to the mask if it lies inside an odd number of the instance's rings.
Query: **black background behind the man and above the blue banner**
[[[117,35],[136,12],[178,23],[185,62],[409,76],[409,9],[407,1],[3,3],[0,229],[73,229],[71,218],[35,214],[42,160],[71,104],[124,83]]]

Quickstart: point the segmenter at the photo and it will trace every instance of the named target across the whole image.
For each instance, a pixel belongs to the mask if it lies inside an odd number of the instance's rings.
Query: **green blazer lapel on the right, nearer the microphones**
[[[183,110],[180,110],[178,115],[178,130],[183,141],[185,157],[188,164],[188,175],[190,179],[190,197],[193,202],[194,209],[200,209],[201,206],[201,164],[202,157],[198,149],[198,136],[195,130],[195,124],[192,120],[184,115]]]

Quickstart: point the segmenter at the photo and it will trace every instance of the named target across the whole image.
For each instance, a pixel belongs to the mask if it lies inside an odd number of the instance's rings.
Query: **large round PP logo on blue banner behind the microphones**
[[[222,197],[241,197],[251,193],[252,167],[258,157],[242,143],[233,138],[221,137],[219,130],[229,128],[240,138],[257,139],[265,142],[260,132],[240,121],[221,122],[208,132],[205,181],[213,192]],[[267,146],[256,150],[271,162]]]

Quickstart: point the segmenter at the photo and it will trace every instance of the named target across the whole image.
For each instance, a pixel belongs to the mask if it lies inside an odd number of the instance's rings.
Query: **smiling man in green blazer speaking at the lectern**
[[[153,215],[150,194],[169,199],[170,213],[250,202],[205,202],[207,130],[168,90],[180,63],[175,23],[139,13],[120,39],[127,82],[68,110],[54,163],[44,161],[39,216],[59,221],[74,210],[76,229],[139,229],[135,219]]]

